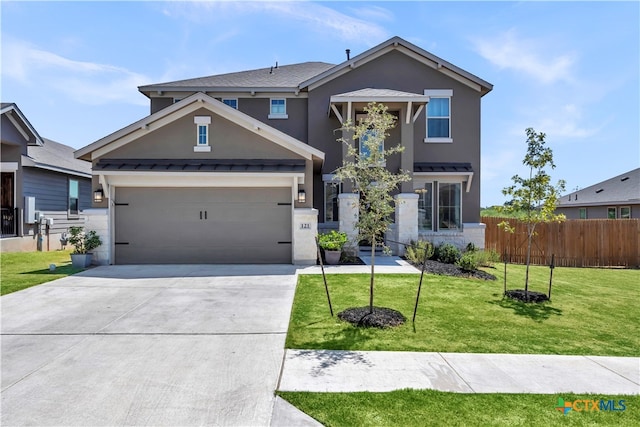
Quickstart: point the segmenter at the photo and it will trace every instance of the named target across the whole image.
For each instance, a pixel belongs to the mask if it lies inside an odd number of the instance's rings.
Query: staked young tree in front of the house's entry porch
[[[400,153],[404,147],[385,148],[384,140],[389,129],[395,126],[395,116],[387,112],[383,104],[369,103],[365,109],[366,118],[353,125],[346,122],[342,127],[342,137],[338,141],[346,144],[347,158],[336,170],[341,181],[349,181],[353,191],[360,194],[358,239],[371,242],[371,280],[369,287],[369,313],[373,313],[373,289],[375,271],[375,249],[380,236],[389,229],[394,212],[391,193],[401,182],[410,179],[404,171],[393,173],[386,168],[386,159]],[[354,143],[359,141],[360,149]]]

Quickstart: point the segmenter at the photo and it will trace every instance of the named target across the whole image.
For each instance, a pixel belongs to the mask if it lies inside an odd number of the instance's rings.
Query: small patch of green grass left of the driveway
[[[0,295],[60,279],[82,271],[71,267],[70,251],[7,252],[0,254]],[[49,265],[55,264],[55,271]]]

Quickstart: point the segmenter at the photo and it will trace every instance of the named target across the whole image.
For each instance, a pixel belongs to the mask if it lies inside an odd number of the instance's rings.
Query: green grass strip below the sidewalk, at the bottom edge
[[[278,392],[325,426],[637,426],[640,396],[595,394],[461,394],[434,390],[397,390],[388,393]],[[558,398],[613,400],[624,411],[569,411],[555,409]],[[585,407],[583,403],[576,405]]]

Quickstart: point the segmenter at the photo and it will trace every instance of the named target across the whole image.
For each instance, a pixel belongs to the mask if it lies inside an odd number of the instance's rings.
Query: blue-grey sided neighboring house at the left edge
[[[91,206],[91,164],[40,137],[16,104],[1,108],[2,251],[60,249]]]

